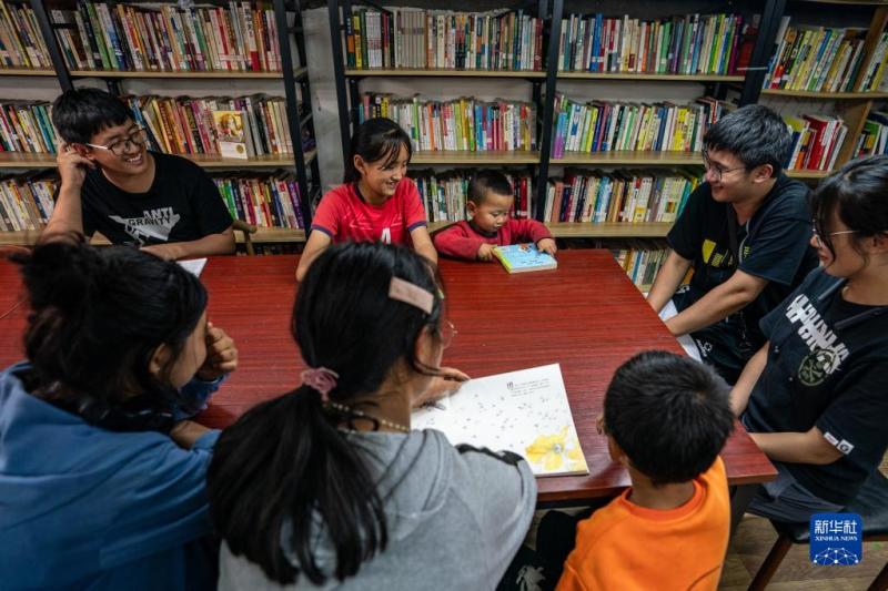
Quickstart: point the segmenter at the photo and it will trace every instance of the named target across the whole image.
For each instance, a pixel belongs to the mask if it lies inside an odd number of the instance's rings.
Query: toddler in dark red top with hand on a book
[[[468,183],[468,221],[438,232],[435,248],[457,258],[492,261],[494,246],[533,242],[542,252],[554,255],[557,247],[546,226],[508,215],[514,201],[512,185],[503,173],[478,171]]]

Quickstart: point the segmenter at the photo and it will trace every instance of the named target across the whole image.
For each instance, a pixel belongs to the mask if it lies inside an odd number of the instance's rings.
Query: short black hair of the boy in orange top
[[[654,485],[686,482],[713,465],[734,429],[729,391],[713,369],[688,357],[640,353],[607,387],[605,430]]]

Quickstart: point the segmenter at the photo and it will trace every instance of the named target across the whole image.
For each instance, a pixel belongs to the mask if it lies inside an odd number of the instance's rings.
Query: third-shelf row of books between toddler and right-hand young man
[[[546,222],[674,222],[702,181],[699,170],[575,171],[551,179]]]

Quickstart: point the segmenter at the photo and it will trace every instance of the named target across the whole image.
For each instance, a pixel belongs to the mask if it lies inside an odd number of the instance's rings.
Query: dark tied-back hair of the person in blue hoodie
[[[78,234],[16,253],[31,312],[24,350],[33,394],[88,420],[133,397],[178,401],[165,374],[206,308],[206,289],[175,263],[129,246],[97,249]],[[160,345],[171,351],[150,371]],[[92,412],[92,411],[91,411]]]

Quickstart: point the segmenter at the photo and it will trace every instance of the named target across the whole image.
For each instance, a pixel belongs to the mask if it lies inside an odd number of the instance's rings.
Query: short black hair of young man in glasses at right
[[[770,164],[777,176],[793,135],[786,122],[764,104],[747,104],[718,120],[703,136],[706,150],[730,152],[748,169]]]

